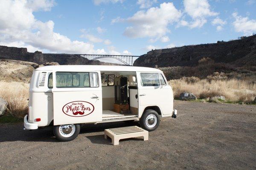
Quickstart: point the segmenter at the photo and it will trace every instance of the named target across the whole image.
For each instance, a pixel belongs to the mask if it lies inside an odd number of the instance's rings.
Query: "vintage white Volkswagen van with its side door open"
[[[71,141],[81,124],[139,121],[157,129],[160,117],[176,118],[172,87],[159,69],[136,66],[63,65],[35,69],[24,129],[53,125]]]

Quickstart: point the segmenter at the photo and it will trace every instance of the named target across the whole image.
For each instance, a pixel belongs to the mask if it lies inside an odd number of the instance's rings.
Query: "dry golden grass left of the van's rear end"
[[[0,81],[0,97],[8,102],[7,114],[23,118],[28,112],[29,84]]]

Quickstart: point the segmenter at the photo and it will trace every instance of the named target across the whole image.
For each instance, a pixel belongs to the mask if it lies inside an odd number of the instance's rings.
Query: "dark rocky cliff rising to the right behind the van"
[[[236,66],[256,66],[256,35],[228,42],[157,49],[140,56],[134,66],[196,66],[201,58]]]

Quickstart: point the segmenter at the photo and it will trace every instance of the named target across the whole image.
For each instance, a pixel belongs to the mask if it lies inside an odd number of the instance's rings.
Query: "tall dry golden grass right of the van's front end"
[[[195,80],[193,78],[192,80]],[[250,79],[211,80],[202,79],[189,82],[187,78],[169,81],[175,98],[181,92],[192,92],[198,98],[225,96],[228,101],[253,103],[256,97],[256,82]]]

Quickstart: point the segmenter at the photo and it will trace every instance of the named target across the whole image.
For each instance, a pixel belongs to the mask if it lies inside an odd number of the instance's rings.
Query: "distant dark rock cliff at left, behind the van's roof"
[[[27,52],[26,48],[0,46],[0,59],[13,59],[43,64],[56,62],[60,65],[81,65],[90,63],[90,60],[70,54],[43,54],[42,52]]]

